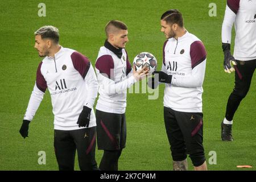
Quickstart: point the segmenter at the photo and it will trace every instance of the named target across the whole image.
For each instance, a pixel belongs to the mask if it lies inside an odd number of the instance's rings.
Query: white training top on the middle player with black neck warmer
[[[125,113],[127,88],[137,82],[125,49],[122,49],[119,58],[108,48],[101,47],[95,69],[100,93],[96,109],[107,113]]]

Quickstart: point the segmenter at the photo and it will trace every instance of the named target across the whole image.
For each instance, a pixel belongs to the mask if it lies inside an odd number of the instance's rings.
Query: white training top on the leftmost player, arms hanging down
[[[92,64],[81,53],[61,47],[53,57],[45,57],[36,73],[36,84],[24,119],[31,121],[48,88],[54,114],[54,129],[77,130],[83,106],[92,108],[89,127],[96,126],[93,111],[98,82]]]

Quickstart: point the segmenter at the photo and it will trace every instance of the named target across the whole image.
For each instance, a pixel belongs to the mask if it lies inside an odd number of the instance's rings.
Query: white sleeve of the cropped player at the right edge
[[[228,7],[228,5],[226,5],[225,16],[224,16],[224,20],[222,23],[222,30],[221,30],[222,43],[231,44],[232,27],[235,19],[236,19],[236,14]]]

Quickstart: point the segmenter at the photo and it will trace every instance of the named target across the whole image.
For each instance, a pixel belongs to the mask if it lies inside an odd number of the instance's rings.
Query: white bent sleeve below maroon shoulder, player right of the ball
[[[192,74],[185,77],[172,76],[171,85],[186,88],[195,88],[203,85],[206,67],[206,59],[192,69]]]

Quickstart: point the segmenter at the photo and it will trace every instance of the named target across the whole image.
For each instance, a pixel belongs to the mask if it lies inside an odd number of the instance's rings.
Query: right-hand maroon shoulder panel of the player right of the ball
[[[199,65],[206,59],[207,52],[205,51],[204,44],[201,41],[195,41],[190,46],[190,57],[192,69]]]

